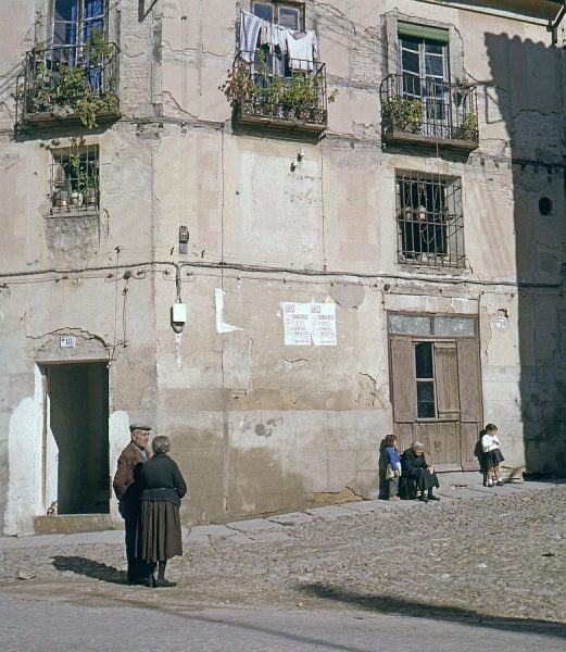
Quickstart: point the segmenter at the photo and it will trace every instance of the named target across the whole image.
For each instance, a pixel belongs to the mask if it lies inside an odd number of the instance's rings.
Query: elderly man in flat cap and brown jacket
[[[146,449],[151,428],[149,426],[131,425],[129,431],[131,441],[118,457],[113,487],[120,501],[120,513],[126,526],[128,581],[130,584],[147,585],[147,564],[136,557],[136,528],[141,496],[141,467],[149,459]]]

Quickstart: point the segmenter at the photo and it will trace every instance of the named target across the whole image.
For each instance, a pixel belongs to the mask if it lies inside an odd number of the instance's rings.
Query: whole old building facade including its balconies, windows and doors
[[[388,432],[564,471],[561,5],[4,3],[3,532],[117,522],[139,419],[201,523],[373,497]]]

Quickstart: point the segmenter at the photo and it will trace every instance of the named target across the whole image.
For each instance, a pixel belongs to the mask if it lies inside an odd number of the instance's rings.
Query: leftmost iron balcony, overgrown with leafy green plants
[[[91,129],[115,120],[117,80],[117,48],[102,39],[32,50],[18,78],[18,126],[65,122]]]

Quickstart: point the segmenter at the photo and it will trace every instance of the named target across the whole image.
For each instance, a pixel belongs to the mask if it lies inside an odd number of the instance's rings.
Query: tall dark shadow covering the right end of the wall
[[[513,170],[519,396],[527,474],[566,475],[564,71],[558,47],[486,34],[483,121],[506,126]],[[481,121],[480,121],[481,122]],[[485,237],[496,255],[498,215]],[[501,234],[501,231],[499,231]],[[504,311],[502,316],[506,316]],[[494,321],[494,316],[490,315]],[[500,331],[504,337],[504,331]],[[511,334],[510,334],[511,335]],[[504,419],[502,419],[504,421]]]

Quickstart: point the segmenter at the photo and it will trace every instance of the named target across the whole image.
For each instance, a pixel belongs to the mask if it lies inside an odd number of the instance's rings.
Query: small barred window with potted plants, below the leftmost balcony
[[[98,146],[51,151],[51,213],[96,211],[99,208]]]

